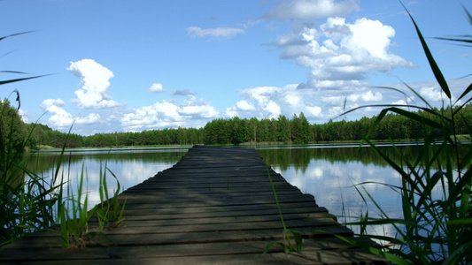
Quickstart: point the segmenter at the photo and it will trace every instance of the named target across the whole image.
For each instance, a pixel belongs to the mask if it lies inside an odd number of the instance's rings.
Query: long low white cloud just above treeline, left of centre
[[[125,131],[143,131],[168,127],[201,127],[220,115],[209,102],[186,100],[181,103],[172,101],[156,102],[130,110],[120,117]]]

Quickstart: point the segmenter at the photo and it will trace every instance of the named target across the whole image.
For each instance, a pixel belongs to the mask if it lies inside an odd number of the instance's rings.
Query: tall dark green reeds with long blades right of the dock
[[[472,16],[468,11],[468,20],[472,25]],[[409,14],[409,13],[408,13]],[[380,217],[370,217],[368,212],[360,217],[359,222],[350,223],[365,228],[368,225],[391,225],[396,231],[395,237],[360,234],[370,239],[381,240],[380,248],[363,246],[372,253],[379,254],[398,264],[471,264],[472,263],[472,145],[470,141],[461,141],[456,135],[456,124],[459,120],[467,126],[468,136],[472,136],[470,120],[461,116],[462,110],[471,100],[472,84],[464,87],[462,94],[453,100],[453,94],[446,79],[432,56],[419,27],[411,14],[416,33],[422,43],[422,49],[429,61],[442,93],[447,97],[445,108],[433,108],[412,87],[405,86],[424,103],[419,105],[370,105],[366,107],[382,107],[380,115],[370,127],[367,135],[361,135],[362,140],[375,152],[383,157],[396,170],[401,178],[399,186],[391,186],[401,194],[403,216],[393,218],[388,216],[363,187],[364,182],[356,186],[363,198],[368,198],[380,212]],[[450,41],[472,42],[468,39],[449,39]],[[396,88],[390,88],[399,91]],[[358,110],[356,108],[354,110]],[[343,115],[352,112],[349,110]],[[414,110],[422,110],[420,115]],[[422,123],[424,146],[422,154],[415,160],[404,156],[399,149],[400,162],[396,163],[391,157],[377,148],[369,140],[369,134],[382,121],[388,112],[394,112],[411,120]],[[395,143],[391,140],[395,147]],[[445,162],[438,158],[444,155]],[[438,169],[438,170],[437,170]],[[375,183],[381,184],[381,183]],[[364,194],[364,195],[363,195]],[[361,230],[365,232],[365,230]],[[344,239],[343,237],[339,237]],[[362,246],[350,239],[344,239],[354,245]]]

